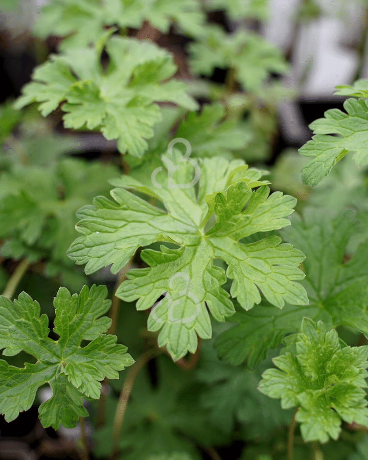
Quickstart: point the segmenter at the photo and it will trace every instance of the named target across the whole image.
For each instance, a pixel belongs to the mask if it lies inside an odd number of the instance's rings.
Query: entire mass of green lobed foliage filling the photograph
[[[296,89],[266,3],[51,0],[19,36],[39,65],[0,105],[7,421],[45,386],[41,424],[80,419],[83,458],[88,432],[117,460],[364,457],[367,80],[279,153]]]

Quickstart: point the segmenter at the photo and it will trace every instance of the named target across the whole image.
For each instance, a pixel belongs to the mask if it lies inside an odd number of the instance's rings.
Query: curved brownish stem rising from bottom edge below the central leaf
[[[125,411],[127,408],[129,396],[133,387],[134,380],[139,373],[139,371],[144,367],[150,359],[152,359],[157,354],[162,353],[162,350],[159,349],[150,349],[143,353],[135,363],[129,367],[126,379],[124,381],[123,388],[120,393],[118,405],[115,412],[115,417],[112,425],[112,452],[111,460],[114,460],[119,453],[119,441],[121,428],[124,421]]]

